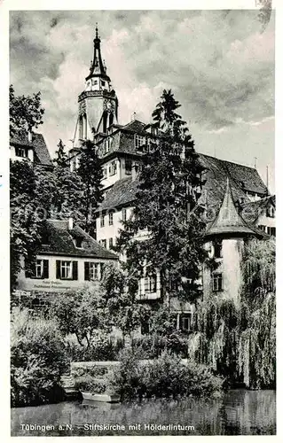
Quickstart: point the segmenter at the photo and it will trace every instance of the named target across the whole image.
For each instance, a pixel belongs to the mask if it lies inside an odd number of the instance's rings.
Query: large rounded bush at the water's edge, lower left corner
[[[57,323],[32,318],[27,309],[12,310],[12,406],[63,400],[60,376],[68,361]]]

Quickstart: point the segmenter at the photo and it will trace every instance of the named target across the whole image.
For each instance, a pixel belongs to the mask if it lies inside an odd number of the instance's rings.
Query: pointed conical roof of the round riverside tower
[[[219,212],[215,221],[209,226],[207,230],[208,236],[215,235],[253,235],[257,236],[258,233],[248,226],[246,221],[242,219],[237,211],[235,202],[232,197],[232,190],[229,178],[227,177],[226,189],[224,192],[224,199],[220,206]]]

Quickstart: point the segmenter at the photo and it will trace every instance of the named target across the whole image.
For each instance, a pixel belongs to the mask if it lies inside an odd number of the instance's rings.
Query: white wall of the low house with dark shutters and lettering
[[[118,266],[117,260],[106,260],[87,257],[70,257],[64,255],[37,255],[38,260],[49,260],[49,278],[28,278],[25,276],[25,271],[22,269],[18,276],[18,287],[20,291],[68,291],[81,288],[84,284],[98,284],[98,280],[93,282],[84,280],[84,262],[91,261],[95,263],[103,263],[104,265],[112,262],[115,266]],[[56,278],[56,260],[71,260],[78,262],[78,279],[77,280],[63,280]],[[23,260],[21,262],[23,268]]]

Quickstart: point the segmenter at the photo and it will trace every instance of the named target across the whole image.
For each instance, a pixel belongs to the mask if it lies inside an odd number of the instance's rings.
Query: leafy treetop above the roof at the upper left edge
[[[15,96],[10,85],[10,136],[17,132],[31,131],[43,124],[44,109],[41,104],[41,93],[32,96]]]

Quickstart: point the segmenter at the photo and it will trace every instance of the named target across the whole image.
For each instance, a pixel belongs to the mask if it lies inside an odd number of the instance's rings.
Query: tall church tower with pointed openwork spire
[[[84,90],[78,97],[79,112],[73,148],[80,148],[84,140],[92,139],[98,133],[106,133],[110,125],[118,123],[118,99],[111,86],[110,77],[106,74],[100,42],[97,26],[90,74],[86,77]]]

